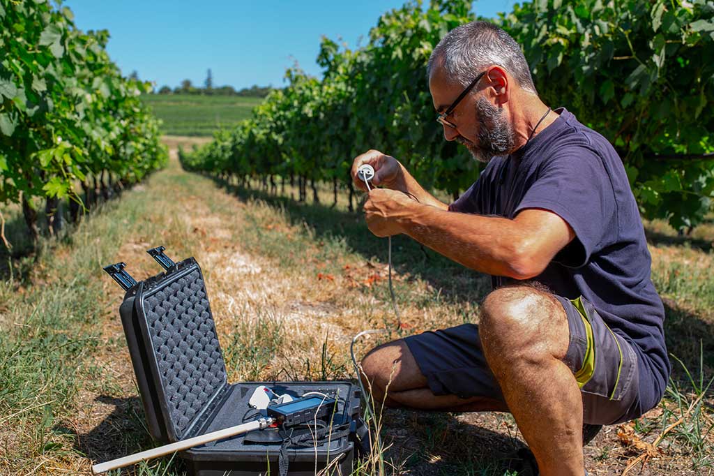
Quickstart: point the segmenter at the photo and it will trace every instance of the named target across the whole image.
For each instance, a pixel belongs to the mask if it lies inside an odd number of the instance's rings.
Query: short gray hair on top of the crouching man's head
[[[521,46],[488,21],[471,21],[449,31],[431,52],[428,75],[436,64],[464,87],[484,68],[497,64],[508,70],[525,91],[538,94]]]

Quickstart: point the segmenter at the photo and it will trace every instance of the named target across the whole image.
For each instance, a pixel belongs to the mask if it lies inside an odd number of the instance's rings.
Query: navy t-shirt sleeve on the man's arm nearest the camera
[[[600,156],[587,147],[572,147],[543,163],[516,214],[546,209],[568,222],[575,238],[553,258],[578,268],[617,235],[615,197]],[[615,227],[615,229],[613,229]]]

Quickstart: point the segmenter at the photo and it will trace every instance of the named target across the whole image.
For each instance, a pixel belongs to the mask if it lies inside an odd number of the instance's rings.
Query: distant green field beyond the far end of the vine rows
[[[212,136],[220,128],[229,129],[251,117],[253,107],[263,101],[198,94],[144,94],[141,99],[164,122],[161,132],[176,136]]]

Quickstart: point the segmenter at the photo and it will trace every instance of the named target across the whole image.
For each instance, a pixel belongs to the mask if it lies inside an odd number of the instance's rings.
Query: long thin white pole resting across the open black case
[[[275,421],[275,419],[273,419],[271,417],[260,418],[254,422],[248,422],[248,423],[244,423],[243,425],[225,428],[223,430],[218,430],[216,432],[206,433],[206,435],[200,435],[197,437],[188,438],[188,440],[177,441],[177,442],[171,443],[169,445],[156,447],[152,450],[142,451],[140,453],[136,453],[135,455],[129,455],[129,456],[117,458],[116,460],[111,460],[111,461],[107,461],[104,463],[100,463],[99,465],[92,466],[91,470],[95,475],[98,475],[100,472],[116,470],[119,467],[134,465],[138,462],[145,461],[145,460],[151,460],[151,458],[155,458],[155,457],[159,457],[159,456],[171,455],[171,453],[181,451],[181,450],[188,450],[188,448],[198,446],[198,445],[205,445],[208,442],[212,442],[212,441],[216,441],[216,440],[223,440],[223,438],[241,435],[243,433],[247,433],[252,430],[263,430],[263,428],[268,427],[269,425],[272,425],[273,421]]]

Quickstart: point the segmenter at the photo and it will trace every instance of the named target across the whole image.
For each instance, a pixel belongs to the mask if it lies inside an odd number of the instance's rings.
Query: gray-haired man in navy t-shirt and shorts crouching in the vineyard
[[[362,361],[375,401],[513,414],[543,475],[583,475],[583,423],[610,425],[657,405],[670,363],[664,309],[623,164],[565,108],[540,101],[520,46],[475,21],[428,62],[444,138],[486,169],[456,202],[428,194],[394,157],[364,206],[373,234],[407,234],[490,274],[479,324],[399,339]],[[387,392],[388,387],[388,392]],[[385,395],[386,392],[386,395]]]

